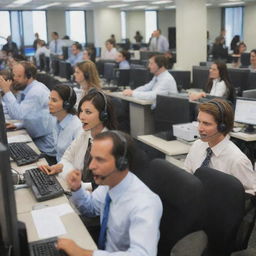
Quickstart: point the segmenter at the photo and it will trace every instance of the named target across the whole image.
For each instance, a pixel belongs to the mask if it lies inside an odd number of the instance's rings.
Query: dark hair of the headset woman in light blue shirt
[[[76,93],[74,92],[74,90],[68,85],[57,84],[52,88],[52,91],[56,91],[63,100],[63,102],[69,102],[70,108],[66,109],[66,111],[69,114],[75,115],[76,109],[74,108],[74,106],[76,104]]]

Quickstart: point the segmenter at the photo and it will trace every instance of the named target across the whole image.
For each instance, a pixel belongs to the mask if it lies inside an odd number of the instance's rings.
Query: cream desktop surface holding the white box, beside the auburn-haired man
[[[166,141],[154,135],[141,135],[137,139],[169,156],[187,154],[191,146],[178,140]]]

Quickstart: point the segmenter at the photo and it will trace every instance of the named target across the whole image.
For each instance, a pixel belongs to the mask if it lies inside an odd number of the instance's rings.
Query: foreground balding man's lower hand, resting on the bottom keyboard
[[[69,256],[92,256],[93,254],[93,251],[84,250],[74,241],[66,238],[59,238],[56,248],[65,251]]]

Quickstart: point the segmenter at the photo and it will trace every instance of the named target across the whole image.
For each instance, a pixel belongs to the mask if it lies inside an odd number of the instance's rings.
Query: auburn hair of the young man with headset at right
[[[217,104],[211,103],[212,101],[217,102]],[[220,106],[220,108],[218,107]],[[221,122],[225,124],[225,130],[222,132],[223,135],[227,135],[233,129],[234,125],[234,110],[230,103],[224,99],[213,99],[206,103],[201,103],[199,105],[199,111],[205,112],[213,116],[215,122],[220,124]]]

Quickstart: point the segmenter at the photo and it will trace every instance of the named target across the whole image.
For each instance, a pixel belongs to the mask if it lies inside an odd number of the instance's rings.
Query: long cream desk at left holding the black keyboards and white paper
[[[25,130],[18,130],[13,132],[8,132],[8,136],[17,136],[17,135],[27,135]],[[33,142],[29,143],[36,151],[38,149]],[[30,165],[17,166],[14,162],[11,162],[12,168],[15,168],[19,173],[24,173],[25,170],[37,167],[39,164],[46,164],[45,159],[40,159],[40,162],[32,163]],[[58,178],[61,185],[66,189],[66,182],[61,178]],[[63,195],[58,198],[47,200],[44,202],[37,202],[32,194],[32,191],[29,188],[22,188],[14,191],[15,200],[16,200],[16,209],[17,209],[17,218],[18,220],[24,222],[27,227],[28,241],[37,241],[40,238],[38,237],[36,227],[34,225],[31,210],[32,207],[37,204],[55,206],[64,203],[69,203],[68,198]],[[64,234],[63,237],[73,239],[80,247],[95,250],[97,246],[95,245],[93,239],[85,228],[83,222],[80,220],[78,215],[75,212],[63,215],[60,217],[62,223],[67,230],[67,234]]]

